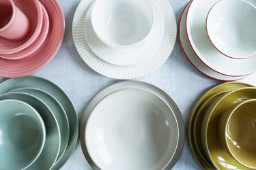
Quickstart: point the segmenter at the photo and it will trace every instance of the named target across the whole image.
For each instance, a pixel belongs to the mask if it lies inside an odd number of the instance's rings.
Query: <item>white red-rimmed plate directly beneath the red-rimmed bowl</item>
[[[229,76],[244,76],[256,71],[256,55],[251,58],[237,60],[229,58],[214,48],[205,29],[208,11],[219,0],[193,0],[188,7],[186,31],[188,41],[195,54],[208,67],[218,73]],[[200,11],[200,15],[198,12]]]

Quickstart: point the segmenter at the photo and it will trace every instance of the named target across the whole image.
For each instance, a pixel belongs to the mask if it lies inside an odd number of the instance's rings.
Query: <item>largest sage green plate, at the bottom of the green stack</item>
[[[32,76],[13,78],[2,82],[0,84],[0,94],[10,92],[12,90],[15,90],[16,88],[25,87],[39,88],[40,90],[48,92],[49,95],[59,101],[68,116],[68,122],[70,124],[70,139],[68,140],[68,148],[53,167],[53,169],[60,169],[61,166],[66,163],[70,155],[73,153],[79,135],[79,118],[76,115],[74,105],[72,104],[72,101],[68,98],[66,93],[63,92],[63,90],[61,90],[61,88],[59,88],[57,85],[53,84],[53,82],[49,82],[48,80],[45,80],[43,78]]]

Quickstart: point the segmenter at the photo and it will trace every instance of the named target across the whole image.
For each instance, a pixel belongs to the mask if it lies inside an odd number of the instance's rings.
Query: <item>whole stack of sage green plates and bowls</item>
[[[28,112],[24,111],[25,109],[19,104],[12,111],[13,118],[10,121],[5,121],[5,124],[1,123],[1,141],[5,143],[5,146],[8,145],[6,142],[12,143],[10,145],[12,148],[2,147],[5,150],[2,153],[5,155],[5,159],[1,159],[0,169],[13,169],[15,163],[18,167],[14,167],[14,169],[60,169],[74,151],[79,133],[76,110],[65,92],[48,80],[24,77],[2,82],[0,94],[0,107],[5,104],[4,102],[20,102],[25,105],[23,107],[30,107],[29,110],[33,110],[38,115],[39,120],[42,120],[42,128],[38,128],[42,130],[33,129],[35,123],[24,118],[23,115],[27,115]],[[6,106],[5,109],[7,113],[9,112],[7,109],[12,109],[12,107]],[[1,120],[2,116],[4,114],[1,115]],[[14,122],[18,122],[19,125]],[[18,126],[19,131],[15,128]],[[42,135],[36,137],[35,134]],[[39,147],[36,148],[37,150],[33,149],[35,143],[41,146],[41,150],[38,149]],[[15,152],[21,152],[20,147],[25,150],[21,156],[15,154]],[[9,164],[3,163],[4,160],[9,160],[9,162],[5,161]],[[33,161],[29,162],[29,160]]]

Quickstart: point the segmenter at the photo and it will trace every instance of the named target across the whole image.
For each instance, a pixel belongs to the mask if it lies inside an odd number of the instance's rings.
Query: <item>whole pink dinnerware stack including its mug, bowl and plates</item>
[[[16,78],[38,71],[53,59],[64,32],[57,0],[2,0],[0,76]]]

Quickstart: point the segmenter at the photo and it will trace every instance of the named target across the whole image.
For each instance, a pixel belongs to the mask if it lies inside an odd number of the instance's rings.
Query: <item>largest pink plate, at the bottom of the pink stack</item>
[[[40,0],[49,17],[49,31],[42,46],[33,54],[18,60],[0,58],[0,76],[17,78],[38,71],[48,64],[61,46],[65,33],[65,18],[57,0]]]

